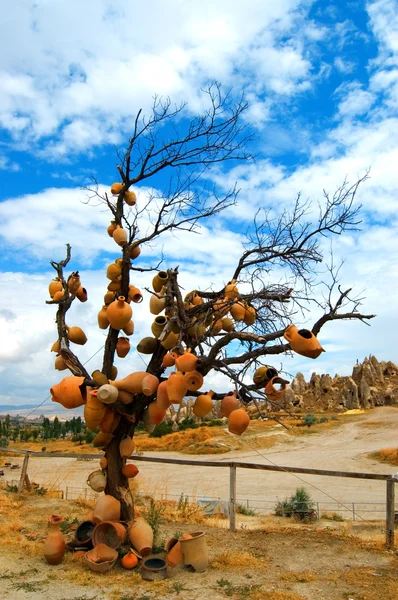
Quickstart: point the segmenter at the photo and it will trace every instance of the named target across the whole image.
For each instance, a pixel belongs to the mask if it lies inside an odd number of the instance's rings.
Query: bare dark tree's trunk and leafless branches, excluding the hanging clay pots
[[[160,98],[155,98],[149,118],[139,111],[128,146],[118,153],[120,164],[117,169],[121,183],[117,196],[101,194],[95,181],[89,188],[89,201],[105,205],[112,215],[111,227],[123,229],[126,233],[119,259],[121,275],[115,286],[115,297],[128,298],[130,272],[146,270],[135,266],[132,258],[146,244],[169,231],[197,232],[200,221],[236,201],[236,186],[219,195],[217,187],[209,185],[206,175],[218,163],[252,158],[248,152],[252,136],[242,120],[247,104],[243,99],[234,101],[230,93],[223,94],[219,85],[211,86],[205,93],[210,101],[209,109],[203,115],[188,120],[182,119],[185,104],[173,107],[169,100]],[[161,186],[157,176],[161,172],[167,172],[169,179],[167,189],[158,191]],[[129,204],[134,204],[130,188],[147,179],[151,179],[153,187],[146,204],[134,205],[130,209],[127,201],[132,198],[133,202]],[[167,353],[164,342],[173,333],[177,352],[190,348],[198,357],[196,369],[200,374],[204,376],[218,371],[226,375],[243,404],[267,399],[261,390],[264,384],[248,384],[246,375],[259,366],[263,358],[290,351],[283,337],[286,327],[299,313],[308,312],[311,302],[315,302],[314,265],[322,261],[319,238],[338,235],[358,226],[360,207],[355,205],[355,196],[365,179],[366,176],[351,186],[345,181],[332,197],[324,193],[317,218],[309,218],[310,205],[302,202],[300,196],[293,210],[283,212],[277,219],[273,220],[269,213],[259,211],[247,234],[238,264],[230,274],[232,288],[244,284],[245,293],[226,295],[223,286],[212,291],[192,290],[183,298],[178,268],[169,268],[165,272],[164,290],[167,320],[147,372],[159,381],[167,379],[162,366]],[[68,245],[65,260],[51,263],[62,282],[63,291],[60,300],[48,301],[58,306],[59,353],[73,375],[84,377],[86,386],[98,388],[99,382],[89,375],[69,347],[65,316],[76,297],[76,291],[73,287],[70,290],[71,286],[64,276],[69,259]],[[288,270],[287,283],[268,282],[275,267]],[[334,273],[333,269],[331,272]],[[76,274],[72,276],[77,277]],[[336,285],[337,275],[332,277],[325,302],[317,301],[315,304],[322,315],[312,327],[314,335],[329,321],[360,319],[366,322],[374,316],[359,312],[360,302],[350,298],[351,290],[339,288],[339,295],[334,299]],[[159,295],[152,290],[148,293]],[[234,312],[233,307],[237,304],[244,308],[247,318],[236,318],[234,322],[226,315],[231,310]],[[119,330],[109,326],[102,365],[106,380],[112,378],[118,338]],[[214,398],[222,398],[225,393],[215,394]],[[189,392],[191,396],[199,394],[199,391]],[[133,517],[133,501],[128,480],[122,474],[126,461],[120,456],[119,444],[123,437],[133,437],[137,423],[155,396],[136,394],[129,404],[116,400],[111,405],[112,410],[120,415],[120,421],[112,440],[105,447],[108,461],[106,493],[120,500],[122,519],[126,521]]]

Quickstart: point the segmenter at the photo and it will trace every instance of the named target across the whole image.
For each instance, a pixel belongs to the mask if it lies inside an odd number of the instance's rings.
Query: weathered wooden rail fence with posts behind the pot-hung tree
[[[33,450],[10,450],[0,448],[0,452],[12,452],[23,454],[24,461],[19,479],[18,492],[23,490],[24,485],[29,487],[30,482],[27,474],[30,456],[40,456],[41,458],[93,458],[100,459],[103,454],[72,454],[64,452],[34,452]],[[398,483],[397,475],[382,475],[378,473],[356,473],[349,471],[328,471],[324,469],[307,469],[304,467],[284,467],[277,465],[260,465],[257,463],[245,462],[220,462],[208,460],[188,460],[182,458],[160,458],[149,456],[132,456],[134,462],[152,462],[160,464],[191,465],[197,467],[220,467],[229,468],[229,528],[236,529],[236,473],[237,469],[255,469],[259,471],[279,471],[282,473],[300,473],[302,475],[320,475],[324,477],[348,477],[351,479],[373,479],[376,481],[385,481],[386,483],[386,548],[394,548],[395,538],[395,484]]]

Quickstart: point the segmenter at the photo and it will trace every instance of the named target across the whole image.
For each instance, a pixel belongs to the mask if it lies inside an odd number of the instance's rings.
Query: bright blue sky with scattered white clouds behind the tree
[[[317,202],[324,189],[333,193],[371,168],[358,194],[361,231],[333,248],[345,259],[342,285],[362,293],[363,311],[377,319],[371,327],[329,324],[319,336],[322,357],[282,362],[307,379],[312,371],[349,374],[369,353],[398,362],[396,0],[14,0],[0,6],[1,404],[39,403],[60,379],[49,352],[54,309],[45,300],[49,261],[64,257],[67,242],[71,270],[89,293],[69,317],[89,338],[79,356],[101,348],[96,315],[115,246],[109,215],[86,203],[82,187],[91,176],[104,189],[117,179],[115,147],[123,148],[154,94],[186,101],[189,116],[203,109],[200,90],[214,79],[245,92],[257,160],[224,173],[241,190],[233,211],[206,222],[201,236],[147,248],[142,265],[163,250],[165,268],[179,264],[187,290],[220,287],[257,208],[278,213],[298,192]],[[144,198],[145,188],[139,192]],[[319,316],[314,309],[308,324]],[[134,307],[134,320],[138,342],[149,334],[147,302]],[[125,360],[121,374],[144,367],[136,353]]]

